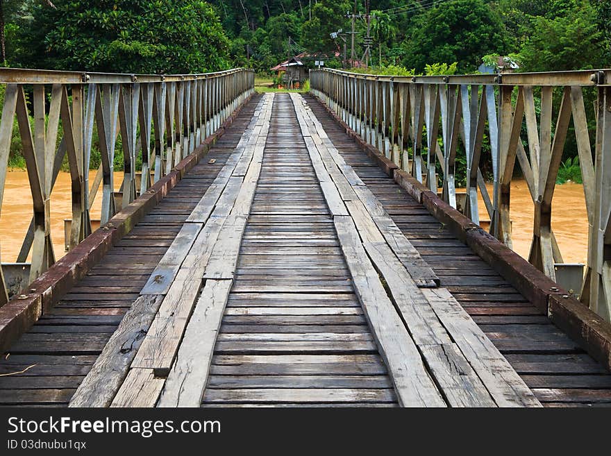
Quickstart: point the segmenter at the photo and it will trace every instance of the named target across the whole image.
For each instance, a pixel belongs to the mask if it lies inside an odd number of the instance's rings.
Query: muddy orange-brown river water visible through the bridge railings
[[[90,171],[90,184],[96,171]],[[123,174],[115,173],[115,189],[119,189]],[[489,189],[492,195],[492,189]],[[554,192],[552,227],[560,245],[564,262],[585,263],[587,259],[587,214],[583,186],[566,183]],[[64,219],[72,217],[69,173],[60,173],[51,194],[51,230],[56,258],[65,255]],[[92,207],[92,219],[99,219],[101,190]],[[0,217],[0,253],[2,262],[17,259],[32,217],[31,193],[26,171],[9,171],[6,176],[4,201]],[[480,218],[487,219],[480,201]],[[511,219],[513,246],[519,255],[528,258],[533,237],[533,202],[524,180],[515,180],[511,187]]]

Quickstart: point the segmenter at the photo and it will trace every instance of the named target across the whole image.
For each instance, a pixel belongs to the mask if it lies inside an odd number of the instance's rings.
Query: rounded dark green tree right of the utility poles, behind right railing
[[[403,65],[421,72],[430,62],[458,62],[459,72],[471,72],[482,56],[509,48],[501,18],[483,0],[446,1],[417,19],[403,42]]]

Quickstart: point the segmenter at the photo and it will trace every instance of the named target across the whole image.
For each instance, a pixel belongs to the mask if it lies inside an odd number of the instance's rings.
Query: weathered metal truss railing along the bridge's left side
[[[22,280],[32,282],[55,262],[50,196],[66,155],[72,182],[67,243],[72,248],[92,232],[90,208],[100,185],[103,225],[221,126],[253,92],[254,73],[231,69],[160,76],[0,69],[0,85],[0,208],[16,121],[33,202],[17,268],[29,269]],[[101,167],[90,185],[94,132]],[[124,163],[117,195],[113,162],[119,141]],[[137,159],[142,160],[139,176]],[[26,264],[30,252],[31,264]],[[0,267],[0,305],[8,295]]]

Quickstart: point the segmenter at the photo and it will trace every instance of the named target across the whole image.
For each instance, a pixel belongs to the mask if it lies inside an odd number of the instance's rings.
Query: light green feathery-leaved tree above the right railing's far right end
[[[609,65],[603,32],[588,1],[568,8],[565,15],[533,18],[533,33],[519,53],[522,71],[591,69]]]

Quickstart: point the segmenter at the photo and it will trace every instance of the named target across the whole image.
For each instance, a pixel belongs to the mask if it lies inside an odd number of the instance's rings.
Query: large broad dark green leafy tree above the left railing
[[[131,73],[226,69],[228,39],[200,0],[56,0],[23,27],[23,66]]]

